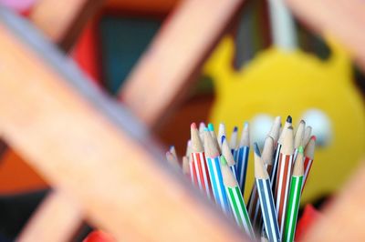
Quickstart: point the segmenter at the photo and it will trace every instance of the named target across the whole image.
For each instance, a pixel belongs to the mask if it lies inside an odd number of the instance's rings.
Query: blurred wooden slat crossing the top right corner
[[[334,35],[365,71],[365,2],[286,0],[294,14],[322,35]]]

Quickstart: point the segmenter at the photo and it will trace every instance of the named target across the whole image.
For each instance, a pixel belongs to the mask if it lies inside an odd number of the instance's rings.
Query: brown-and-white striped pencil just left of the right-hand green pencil
[[[280,234],[283,234],[285,218],[287,212],[287,194],[289,190],[289,181],[291,176],[291,170],[293,166],[293,127],[289,126],[286,130],[283,130],[283,146],[280,150],[280,155],[277,163],[277,176],[276,176],[276,211],[277,211],[277,223],[279,225]]]

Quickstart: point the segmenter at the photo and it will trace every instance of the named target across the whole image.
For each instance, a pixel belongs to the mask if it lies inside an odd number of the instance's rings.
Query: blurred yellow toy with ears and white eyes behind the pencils
[[[271,47],[235,71],[234,43],[225,37],[204,66],[204,73],[214,79],[214,125],[223,121],[228,132],[249,121],[258,141],[275,116],[282,121],[293,116],[295,127],[305,118],[313,127],[319,144],[303,202],[339,188],[365,150],[365,107],[352,82],[349,56],[339,45],[329,45],[332,55],[327,61],[300,50]],[[257,131],[257,126],[262,130]],[[256,134],[260,131],[264,136]],[[245,190],[252,186],[253,174],[250,155]]]

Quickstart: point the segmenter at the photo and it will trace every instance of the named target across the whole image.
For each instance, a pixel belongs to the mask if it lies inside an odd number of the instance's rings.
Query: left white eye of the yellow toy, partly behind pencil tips
[[[259,147],[263,147],[267,133],[273,125],[274,117],[265,114],[254,116],[250,122],[251,141],[257,142]]]

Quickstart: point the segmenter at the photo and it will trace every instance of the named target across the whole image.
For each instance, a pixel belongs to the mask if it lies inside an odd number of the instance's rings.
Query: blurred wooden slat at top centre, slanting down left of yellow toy
[[[183,96],[244,0],[186,0],[166,20],[120,89],[120,98],[148,126]]]

